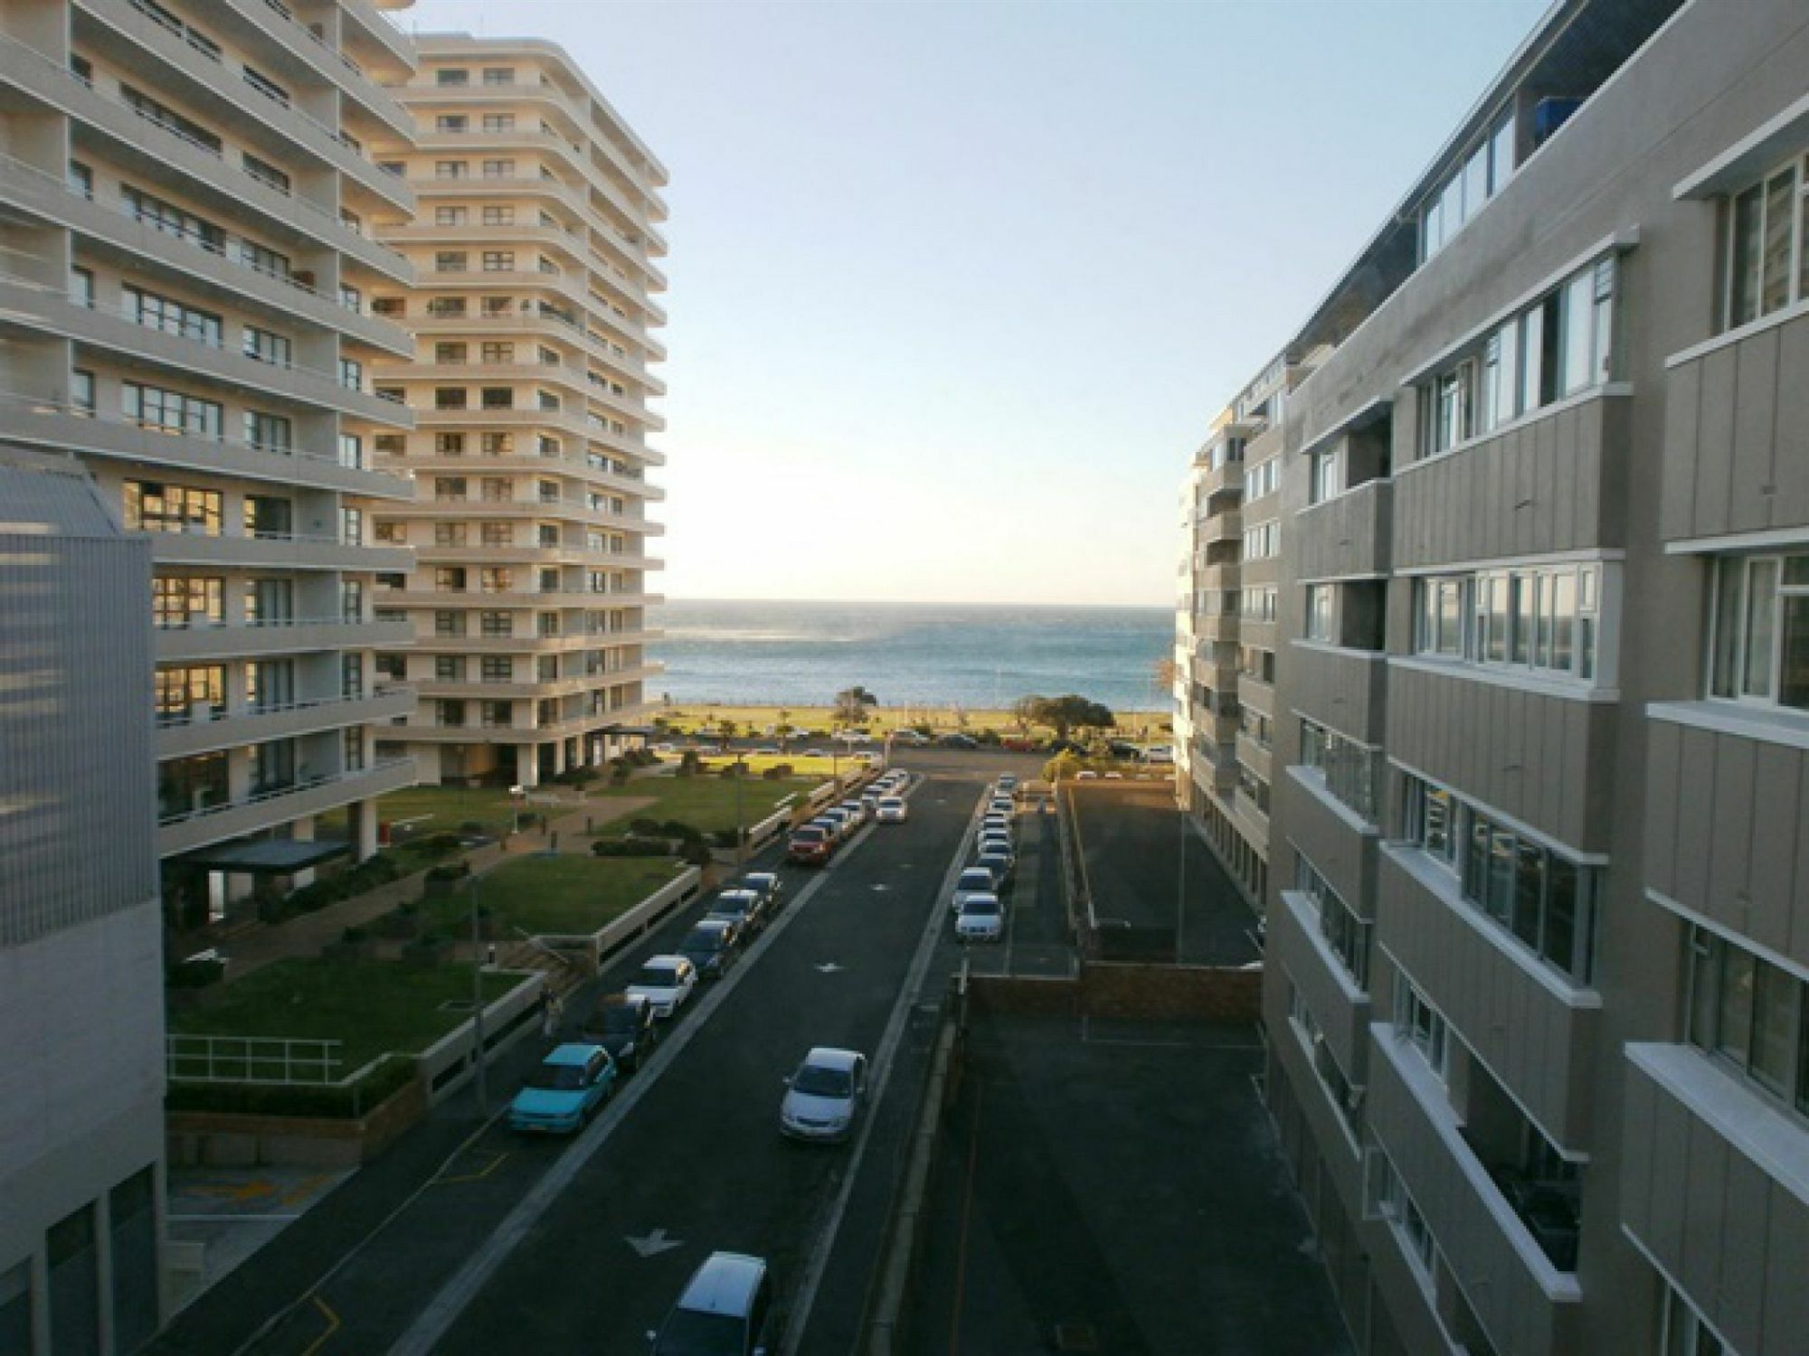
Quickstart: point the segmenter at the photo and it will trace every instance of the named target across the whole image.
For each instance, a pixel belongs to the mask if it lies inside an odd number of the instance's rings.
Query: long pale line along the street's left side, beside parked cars
[[[859,835],[848,844],[848,850],[859,846],[865,833],[870,830],[861,830]],[[834,870],[834,862],[823,870],[792,900],[792,906],[780,915],[778,922],[762,933],[760,940],[749,947],[743,960],[753,962],[772,946],[791,920],[803,913],[803,906],[810,902],[829,882],[829,871]],[[727,978],[718,980],[716,985],[698,1002],[696,1011],[689,1022],[686,1022],[669,1038],[660,1041],[660,1049],[655,1052],[648,1067],[628,1085],[628,1090],[610,1101],[608,1110],[590,1123],[572,1146],[559,1157],[554,1166],[550,1166],[541,1179],[528,1188],[526,1195],[516,1202],[514,1210],[503,1217],[490,1237],[479,1244],[465,1264],[452,1273],[452,1276],[440,1287],[432,1300],[414,1316],[409,1329],[396,1340],[389,1349],[391,1356],[427,1356],[447,1332],[452,1331],[452,1323],[458,1316],[465,1313],[467,1305],[478,1296],[478,1291],[497,1273],[516,1246],[526,1237],[539,1219],[552,1210],[554,1202],[564,1191],[564,1188],[577,1177],[579,1170],[595,1157],[597,1150],[615,1134],[615,1126],[635,1108],[648,1088],[658,1081],[658,1074],[684,1050],[686,1045],[704,1029],[704,1023],[715,1014],[718,1007],[734,993],[734,985],[742,982],[747,973],[745,965],[736,965],[729,971]],[[501,1112],[499,1112],[501,1114]]]

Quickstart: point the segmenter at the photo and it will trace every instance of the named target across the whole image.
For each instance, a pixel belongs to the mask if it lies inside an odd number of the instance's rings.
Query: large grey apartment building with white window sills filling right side
[[[1364,1352],[1809,1349],[1809,5],[1559,0],[1306,316],[1266,1097]]]

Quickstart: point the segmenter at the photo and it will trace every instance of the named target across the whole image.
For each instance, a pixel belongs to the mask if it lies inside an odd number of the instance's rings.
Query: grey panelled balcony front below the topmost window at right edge
[[[1661,532],[1686,542],[1809,524],[1809,309],[1796,306],[1672,356]]]

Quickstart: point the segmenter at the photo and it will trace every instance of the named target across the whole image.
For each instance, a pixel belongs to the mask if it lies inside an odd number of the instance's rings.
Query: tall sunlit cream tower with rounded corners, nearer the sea
[[[384,231],[414,266],[382,315],[414,351],[380,363],[412,432],[378,439],[414,479],[374,523],[416,568],[382,580],[409,649],[378,656],[421,692],[385,749],[423,781],[534,785],[620,750],[646,711],[648,541],[666,351],[666,172],[548,42],[420,38],[394,90],[414,119],[382,157],[420,199]]]

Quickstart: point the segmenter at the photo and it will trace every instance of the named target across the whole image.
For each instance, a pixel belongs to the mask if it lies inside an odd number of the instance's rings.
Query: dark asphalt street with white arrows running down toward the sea
[[[897,761],[924,776],[910,821],[867,828],[823,871],[783,868],[789,908],[780,922],[727,980],[698,991],[655,1063],[579,1141],[525,1139],[481,1125],[474,1108],[463,1119],[456,1105],[440,1108],[203,1296],[157,1351],[331,1356],[581,1343],[631,1352],[691,1269],[720,1248],[774,1264],[794,1309],[789,1349],[848,1351],[926,1067],[933,1003],[961,964],[948,870],[984,783],[1037,765],[955,750]],[[1009,951],[1035,965],[1038,946],[1060,953],[1062,902],[1053,821],[1044,853],[1031,819],[1013,890],[1024,949]],[[1038,870],[1044,855],[1049,871]],[[776,850],[751,866],[772,857]],[[620,987],[646,955],[671,949],[706,908],[680,911],[619,958],[568,1005],[568,1022],[590,994]],[[979,960],[1002,967],[1008,949],[986,947]],[[781,1139],[781,1079],[803,1052],[847,1045],[876,1054],[888,1029],[897,1058],[868,1108],[868,1143]],[[505,1059],[496,1103],[539,1049],[530,1038]],[[848,1179],[856,1159],[859,1173]]]

